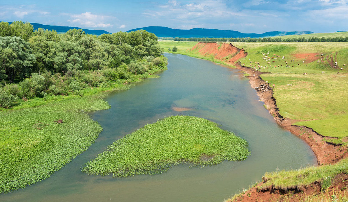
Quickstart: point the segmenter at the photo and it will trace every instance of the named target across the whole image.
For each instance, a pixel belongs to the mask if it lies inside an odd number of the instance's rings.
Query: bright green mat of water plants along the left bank
[[[85,151],[102,127],[83,111],[109,109],[101,96],[0,111],[0,193],[46,179]]]

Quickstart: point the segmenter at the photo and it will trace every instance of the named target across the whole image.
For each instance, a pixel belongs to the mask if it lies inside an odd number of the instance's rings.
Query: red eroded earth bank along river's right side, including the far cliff
[[[190,57],[206,59],[215,63],[233,66],[245,72],[245,76],[249,79],[251,87],[255,90],[256,88],[259,89],[256,91],[260,97],[260,101],[264,102],[264,106],[269,113],[272,114],[279,126],[305,141],[316,155],[318,165],[335,163],[348,156],[348,150],[346,147],[342,148],[341,145],[336,145],[332,142],[325,141],[328,139],[328,137],[317,133],[312,128],[293,125],[295,122],[299,122],[301,120],[284,118],[279,114],[279,108],[277,106],[276,99],[273,96],[273,88],[271,88],[269,83],[266,83],[261,78],[262,74],[268,74],[270,72],[255,71],[255,69],[252,67],[243,66],[240,59],[246,58],[248,55],[243,48],[237,48],[231,43],[215,42],[199,42],[193,47],[192,43],[189,42],[188,45],[191,47],[187,48],[184,45],[178,46],[182,47],[182,49],[179,49],[178,52]],[[187,48],[186,51],[183,50],[184,48]]]

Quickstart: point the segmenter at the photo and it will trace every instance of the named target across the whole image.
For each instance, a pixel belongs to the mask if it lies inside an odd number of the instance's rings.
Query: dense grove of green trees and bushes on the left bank
[[[0,23],[0,89],[14,98],[82,95],[147,78],[166,64],[157,37],[144,30],[97,37],[81,29],[57,34],[33,31],[30,23]]]

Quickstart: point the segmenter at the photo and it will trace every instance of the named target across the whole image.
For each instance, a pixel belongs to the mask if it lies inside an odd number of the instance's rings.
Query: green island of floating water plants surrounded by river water
[[[172,165],[219,164],[223,160],[244,160],[248,143],[209,120],[189,116],[159,119],[126,135],[82,168],[88,174],[127,177],[157,174]]]

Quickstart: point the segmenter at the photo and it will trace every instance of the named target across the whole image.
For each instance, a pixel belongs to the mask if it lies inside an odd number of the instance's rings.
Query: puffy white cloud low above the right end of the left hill
[[[111,21],[111,16],[105,16],[105,15],[96,15],[91,12],[81,13],[81,14],[73,14],[70,15],[72,19],[68,20],[68,22],[72,22],[74,24],[80,24],[85,27],[91,27],[91,28],[108,28],[112,27],[111,23],[107,23],[106,21]]]

